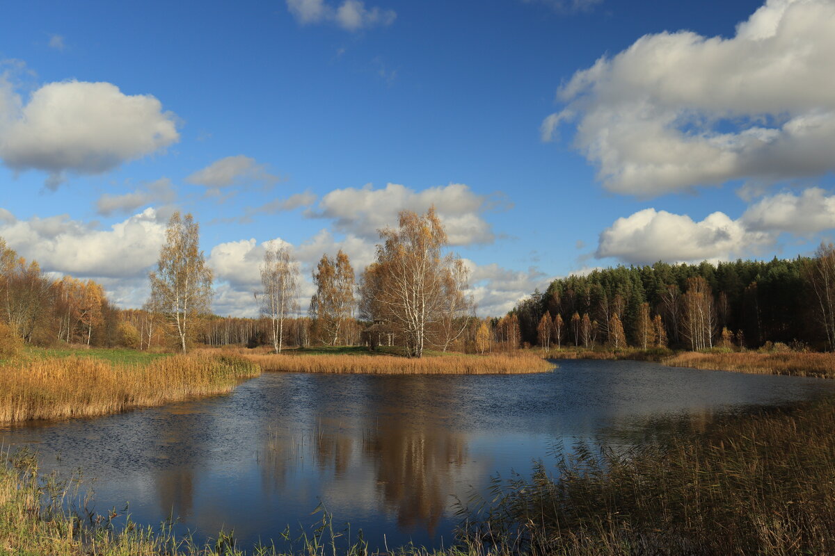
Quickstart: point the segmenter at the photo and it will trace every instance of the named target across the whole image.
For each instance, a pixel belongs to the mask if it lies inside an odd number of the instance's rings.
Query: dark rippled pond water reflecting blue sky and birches
[[[659,423],[835,392],[835,381],[563,361],[554,373],[368,376],[266,373],[234,393],[111,417],[0,429],[46,468],[94,477],[96,508],[244,545],[310,528],[321,502],[372,547],[448,544],[454,496],[549,462],[556,443],[623,445]]]

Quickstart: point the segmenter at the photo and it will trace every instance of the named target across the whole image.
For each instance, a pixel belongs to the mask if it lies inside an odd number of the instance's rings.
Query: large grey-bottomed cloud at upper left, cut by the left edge
[[[180,139],[175,115],[150,95],[126,95],[112,83],[48,83],[23,103],[0,83],[0,158],[18,172],[99,174],[156,153]]]

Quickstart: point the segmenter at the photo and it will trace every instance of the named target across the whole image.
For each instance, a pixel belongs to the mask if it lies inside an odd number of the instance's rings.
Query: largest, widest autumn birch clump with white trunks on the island
[[[428,343],[440,343],[450,308],[460,307],[450,303],[462,293],[463,281],[453,276],[459,258],[444,253],[447,233],[434,208],[423,216],[402,211],[397,228],[380,230],[380,239],[362,277],[363,313],[395,328],[407,354],[420,357]]]

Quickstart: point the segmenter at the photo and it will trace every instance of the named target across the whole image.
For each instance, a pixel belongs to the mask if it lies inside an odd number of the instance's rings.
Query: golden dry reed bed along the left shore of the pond
[[[177,355],[148,365],[92,358],[19,360],[0,365],[0,423],[95,417],[229,392],[261,371],[245,358]]]

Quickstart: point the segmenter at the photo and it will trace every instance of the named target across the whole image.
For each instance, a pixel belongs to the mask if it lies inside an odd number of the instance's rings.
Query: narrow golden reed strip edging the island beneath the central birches
[[[393,355],[246,355],[265,371],[286,373],[366,374],[523,374],[555,368],[530,354],[438,355],[404,358]]]

